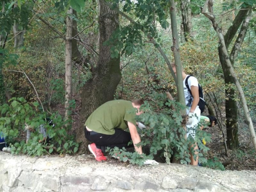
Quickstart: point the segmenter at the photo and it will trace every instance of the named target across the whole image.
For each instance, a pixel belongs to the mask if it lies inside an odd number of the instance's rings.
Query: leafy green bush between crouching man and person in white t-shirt
[[[139,121],[147,126],[147,129],[138,129],[142,140],[140,145],[143,147],[150,146],[150,153],[147,158],[153,159],[154,155],[161,152],[161,156],[165,158],[166,163],[170,163],[173,158],[176,158],[182,164],[188,164],[191,162],[189,155],[189,150],[192,150],[190,149],[191,143],[197,142],[201,152],[199,153],[199,162],[206,162],[202,153],[206,153],[209,148],[204,146],[201,140],[204,138],[207,142],[210,142],[210,135],[204,131],[198,131],[195,141],[190,138],[186,140],[186,132],[182,127],[184,122],[180,114],[180,110],[184,110],[185,107],[178,102],[167,101],[163,94],[154,93],[153,95],[153,102],[146,102],[142,106],[145,113],[139,116]],[[174,109],[171,109],[170,106],[174,106]],[[125,162],[131,159],[130,162],[132,163],[138,165],[143,163],[143,158],[136,155],[136,153],[133,154],[124,149],[119,152],[116,149],[110,150],[111,154],[118,154],[117,156],[120,157],[121,161]],[[195,154],[193,156],[196,158]]]

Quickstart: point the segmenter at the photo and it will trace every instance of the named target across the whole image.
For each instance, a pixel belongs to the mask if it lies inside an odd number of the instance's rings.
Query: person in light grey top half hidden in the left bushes
[[[50,120],[50,119],[48,119],[48,118],[46,118],[46,120],[48,121],[48,125],[54,127],[54,124],[53,124],[53,121],[52,121],[52,120]],[[37,131],[38,133],[43,134],[43,137],[44,137],[44,138],[43,138],[42,140],[38,140],[39,143],[43,143],[43,142],[49,143],[49,141],[51,140],[51,138],[49,138],[49,136],[46,135],[46,129],[45,129],[45,127],[44,127],[43,124],[41,124],[41,125],[40,125],[39,127],[37,127],[37,128],[34,128],[34,127],[32,127],[31,125],[27,125],[27,124],[26,124],[26,126],[25,126],[25,131],[27,131],[26,143],[29,142],[29,139],[30,139],[30,137],[31,137],[31,132],[34,132],[34,131]]]

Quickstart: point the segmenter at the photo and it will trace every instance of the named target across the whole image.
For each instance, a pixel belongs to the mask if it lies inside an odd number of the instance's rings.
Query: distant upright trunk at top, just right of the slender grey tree
[[[189,7],[190,0],[181,0],[181,16],[184,30],[185,41],[192,37],[192,22],[191,22],[191,8]]]

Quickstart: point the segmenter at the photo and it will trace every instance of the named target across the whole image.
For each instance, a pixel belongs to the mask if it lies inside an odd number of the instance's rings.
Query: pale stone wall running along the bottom
[[[255,171],[189,165],[134,166],[92,155],[27,157],[0,152],[0,192],[255,192]]]

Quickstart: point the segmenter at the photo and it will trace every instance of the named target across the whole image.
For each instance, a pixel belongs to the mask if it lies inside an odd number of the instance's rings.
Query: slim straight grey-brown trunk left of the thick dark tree
[[[71,120],[72,99],[72,18],[73,9],[67,11],[66,57],[65,57],[65,120]],[[70,124],[68,124],[70,125]]]

